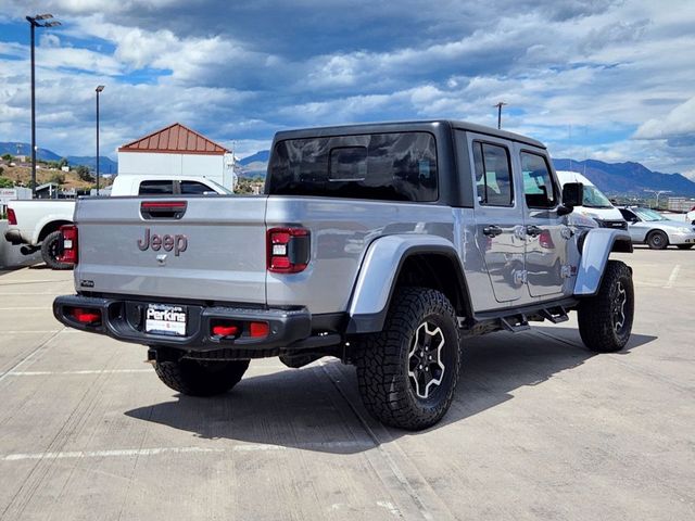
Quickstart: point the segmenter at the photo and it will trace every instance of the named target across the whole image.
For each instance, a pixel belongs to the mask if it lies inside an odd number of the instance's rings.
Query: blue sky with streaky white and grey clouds
[[[556,157],[695,179],[693,0],[0,0],[0,141],[94,154],[174,122],[249,155],[279,129],[458,118]]]

